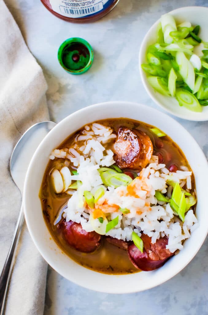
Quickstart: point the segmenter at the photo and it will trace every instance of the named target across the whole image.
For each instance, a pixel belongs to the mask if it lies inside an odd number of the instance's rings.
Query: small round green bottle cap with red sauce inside
[[[66,39],[58,49],[60,65],[71,74],[82,74],[90,69],[94,58],[91,45],[83,38]]]

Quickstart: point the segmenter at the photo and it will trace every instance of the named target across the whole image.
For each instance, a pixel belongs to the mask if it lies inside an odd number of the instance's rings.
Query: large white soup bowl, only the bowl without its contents
[[[161,268],[128,275],[106,275],[86,269],[57,246],[47,229],[38,197],[51,151],[83,125],[105,118],[127,117],[154,125],[169,135],[183,150],[193,169],[200,228],[185,241],[184,249]],[[155,287],[180,272],[200,249],[208,232],[207,160],[192,136],[174,119],[148,106],[131,102],[107,102],[89,106],[58,123],[37,148],[28,168],[24,187],[25,219],[30,235],[43,258],[58,273],[85,288],[106,293],[130,293]]]

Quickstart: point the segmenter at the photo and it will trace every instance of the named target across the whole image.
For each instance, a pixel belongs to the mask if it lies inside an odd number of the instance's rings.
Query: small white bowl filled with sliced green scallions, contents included
[[[159,106],[183,119],[208,120],[208,8],[163,14],[141,44],[139,65]]]

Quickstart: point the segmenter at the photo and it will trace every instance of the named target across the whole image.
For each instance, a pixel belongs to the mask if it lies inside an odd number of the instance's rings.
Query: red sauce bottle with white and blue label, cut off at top
[[[110,12],[119,0],[41,0],[58,18],[68,22],[92,22]]]

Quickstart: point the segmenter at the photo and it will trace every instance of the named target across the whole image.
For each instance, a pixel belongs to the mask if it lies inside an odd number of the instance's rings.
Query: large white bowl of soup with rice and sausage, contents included
[[[76,284],[107,293],[150,289],[200,249],[207,161],[175,120],[141,104],[89,106],[58,123],[25,179],[30,235]]]

